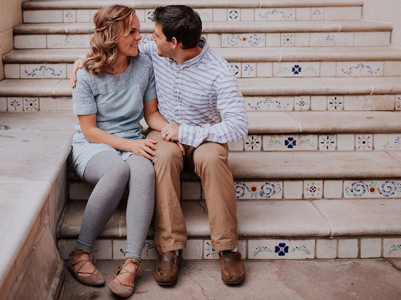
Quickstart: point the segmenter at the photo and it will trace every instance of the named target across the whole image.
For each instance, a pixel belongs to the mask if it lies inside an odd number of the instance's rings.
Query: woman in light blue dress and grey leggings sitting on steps
[[[95,187],[70,253],[69,268],[82,283],[103,284],[90,251],[128,183],[126,258],[109,284],[114,294],[127,297],[135,286],[154,205],[151,160],[156,141],[144,139],[139,120],[144,115],[149,126],[159,130],[167,122],[157,110],[152,62],[139,54],[140,23],[135,10],[109,5],[93,19],[91,49],[73,90],[79,121],[72,160],[77,174]]]

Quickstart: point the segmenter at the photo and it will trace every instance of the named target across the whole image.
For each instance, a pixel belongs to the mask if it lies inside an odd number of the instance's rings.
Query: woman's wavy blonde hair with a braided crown
[[[135,9],[124,5],[108,5],[100,8],[93,16],[95,33],[84,68],[94,76],[105,69],[113,70],[117,60],[117,43],[129,33]]]

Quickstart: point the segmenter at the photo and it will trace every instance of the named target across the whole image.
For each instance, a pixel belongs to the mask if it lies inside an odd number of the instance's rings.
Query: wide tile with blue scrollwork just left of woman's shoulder
[[[66,64],[21,64],[21,78],[66,78]]]

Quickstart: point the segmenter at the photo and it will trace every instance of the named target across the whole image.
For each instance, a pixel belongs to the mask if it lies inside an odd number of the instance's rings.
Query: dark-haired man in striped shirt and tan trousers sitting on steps
[[[222,279],[227,284],[241,283],[245,269],[237,251],[236,196],[227,158],[227,142],[244,139],[248,131],[237,78],[227,61],[200,36],[202,21],[192,8],[157,7],[152,20],[153,42],[142,45],[141,53],[151,57],[155,73],[158,104],[151,109],[159,110],[168,122],[161,132],[151,130],[147,135],[157,141],[154,245],[159,253],[154,276],[162,285],[177,280],[187,238],[179,178],[182,169],[190,167],[205,190]],[[74,63],[72,80],[79,63]],[[181,142],[186,155],[170,141]]]

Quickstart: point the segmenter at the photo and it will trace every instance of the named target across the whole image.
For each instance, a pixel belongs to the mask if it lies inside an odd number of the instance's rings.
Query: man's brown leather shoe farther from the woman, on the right
[[[222,267],[222,280],[224,283],[238,284],[244,281],[245,268],[240,252],[223,251],[223,254],[220,255],[220,265]]]

